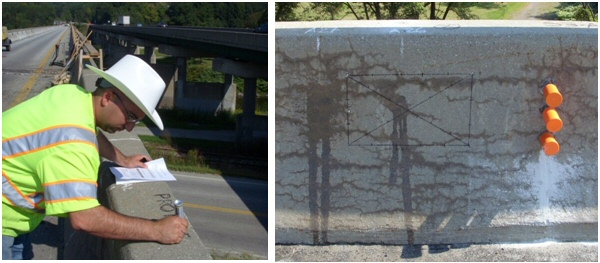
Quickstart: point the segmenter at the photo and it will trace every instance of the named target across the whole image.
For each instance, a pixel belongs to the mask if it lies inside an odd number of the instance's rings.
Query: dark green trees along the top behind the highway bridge
[[[266,23],[267,3],[36,2],[2,3],[2,26],[9,29],[50,26],[57,22],[109,24],[129,16],[131,25],[256,28]]]

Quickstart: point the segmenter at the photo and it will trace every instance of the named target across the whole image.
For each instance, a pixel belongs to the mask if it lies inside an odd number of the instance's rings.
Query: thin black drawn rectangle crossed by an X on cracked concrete
[[[448,85],[447,87],[443,88],[442,90],[436,92],[435,94],[429,96],[427,99],[415,104],[414,106],[410,107],[410,108],[406,108],[402,105],[400,105],[399,103],[393,101],[392,99],[386,97],[385,95],[381,94],[380,92],[372,89],[369,85],[366,85],[360,81],[358,81],[357,79],[355,79],[354,77],[364,77],[364,76],[370,76],[370,77],[377,77],[377,76],[450,76],[450,75],[467,75],[463,78],[461,78],[458,81],[455,81],[453,83],[451,83],[450,85]],[[390,146],[390,144],[388,143],[382,143],[382,144],[357,144],[356,142],[361,140],[362,138],[371,135],[374,131],[378,130],[379,128],[389,124],[390,122],[394,121],[395,119],[397,119],[398,117],[401,117],[402,115],[404,115],[405,113],[410,113],[413,116],[421,119],[422,121],[430,124],[431,126],[435,127],[436,129],[442,131],[443,133],[453,137],[454,139],[458,140],[459,142],[461,142],[460,144],[407,144],[407,145],[399,145],[399,144],[391,144],[392,146],[467,146],[470,147],[470,138],[471,138],[471,109],[472,109],[472,101],[473,101],[473,75],[474,73],[433,73],[433,74],[425,74],[425,73],[396,73],[396,74],[357,74],[357,75],[350,75],[347,74],[346,75],[346,126],[347,126],[347,137],[348,137],[348,146]],[[461,81],[467,79],[471,77],[471,84],[470,84],[470,95],[469,95],[469,129],[468,129],[468,136],[467,136],[467,141],[463,141],[463,139],[455,136],[454,134],[452,134],[451,132],[443,129],[442,127],[439,127],[438,125],[434,124],[431,121],[426,120],[425,118],[421,117],[419,114],[413,112],[412,110],[415,109],[416,107],[420,106],[421,104],[429,101],[430,99],[434,98],[435,96],[441,94],[442,92],[444,92],[445,90],[453,87],[454,85],[460,83]],[[350,98],[349,98],[349,85],[348,85],[348,79],[356,82],[357,84],[359,84],[360,86],[365,87],[366,89],[372,91],[373,93],[379,95],[380,97],[384,98],[387,101],[390,101],[391,103],[395,104],[396,106],[402,108],[404,111],[393,116],[392,119],[384,122],[383,124],[377,126],[376,128],[366,132],[365,134],[363,134],[362,136],[358,137],[357,139],[353,140],[352,142],[350,141]]]

